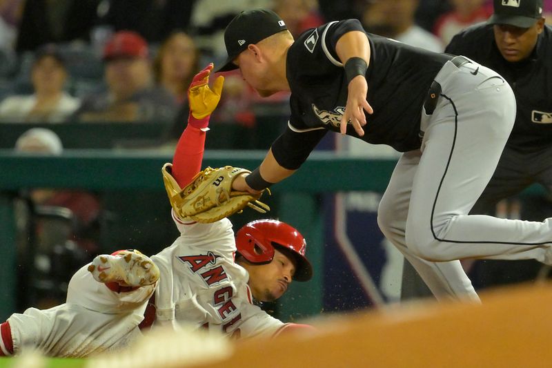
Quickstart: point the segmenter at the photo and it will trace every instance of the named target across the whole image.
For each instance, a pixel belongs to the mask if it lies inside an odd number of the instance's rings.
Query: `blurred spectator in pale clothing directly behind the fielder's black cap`
[[[272,0],[196,0],[190,19],[190,34],[202,54],[217,61],[226,59],[224,28],[246,9],[271,8]]]

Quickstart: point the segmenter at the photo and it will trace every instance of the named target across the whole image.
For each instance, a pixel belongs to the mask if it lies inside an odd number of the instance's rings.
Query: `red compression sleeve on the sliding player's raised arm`
[[[205,135],[203,130],[188,124],[180,136],[172,157],[172,177],[180,187],[190,184],[193,177],[201,171]]]

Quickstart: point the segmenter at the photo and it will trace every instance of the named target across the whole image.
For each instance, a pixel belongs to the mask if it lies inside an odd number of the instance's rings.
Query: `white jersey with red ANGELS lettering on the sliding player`
[[[172,246],[154,255],[157,325],[186,323],[248,338],[284,326],[252,304],[247,271],[234,262],[236,244],[226,218],[213,224],[183,222]]]

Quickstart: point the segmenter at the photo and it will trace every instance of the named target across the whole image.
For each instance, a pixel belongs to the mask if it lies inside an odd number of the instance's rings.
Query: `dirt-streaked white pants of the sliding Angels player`
[[[66,303],[8,318],[14,354],[34,347],[48,356],[83,357],[124,347],[140,336],[137,326],[155,285],[115,293],[86,268],[71,278]]]

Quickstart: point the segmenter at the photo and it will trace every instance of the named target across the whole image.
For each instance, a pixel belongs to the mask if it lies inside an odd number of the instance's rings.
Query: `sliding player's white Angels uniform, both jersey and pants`
[[[181,235],[152,260],[157,284],[116,293],[92,278],[87,266],[73,275],[67,302],[15,313],[8,322],[14,354],[36,347],[43,354],[84,357],[118,349],[141,335],[148,300],[155,291],[156,325],[193,325],[250,338],[286,326],[252,304],[247,271],[235,264],[232,224],[188,223],[173,216]]]

